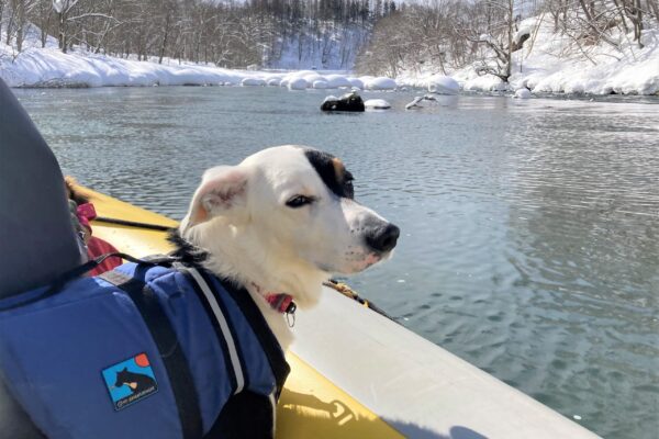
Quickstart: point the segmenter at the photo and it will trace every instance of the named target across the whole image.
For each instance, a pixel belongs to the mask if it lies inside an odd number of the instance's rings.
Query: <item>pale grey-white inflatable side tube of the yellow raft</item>
[[[597,438],[403,326],[324,288],[290,350],[409,438]]]

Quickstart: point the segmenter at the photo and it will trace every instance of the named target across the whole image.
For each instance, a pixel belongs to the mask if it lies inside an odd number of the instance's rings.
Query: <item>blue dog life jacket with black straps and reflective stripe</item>
[[[52,439],[272,437],[289,370],[249,294],[200,267],[131,262],[0,301],[0,371]]]

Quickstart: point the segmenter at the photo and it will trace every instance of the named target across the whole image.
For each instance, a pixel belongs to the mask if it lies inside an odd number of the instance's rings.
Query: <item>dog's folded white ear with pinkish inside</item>
[[[182,228],[206,222],[215,216],[234,216],[245,211],[247,172],[237,166],[219,166],[204,172],[194,192]]]

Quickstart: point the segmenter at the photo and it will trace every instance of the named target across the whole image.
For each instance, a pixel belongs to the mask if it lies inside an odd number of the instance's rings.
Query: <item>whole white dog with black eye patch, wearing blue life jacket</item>
[[[390,258],[399,234],[330,154],[287,145],[211,168],[172,255],[4,309],[4,382],[48,436],[272,438],[286,317],[332,274]]]

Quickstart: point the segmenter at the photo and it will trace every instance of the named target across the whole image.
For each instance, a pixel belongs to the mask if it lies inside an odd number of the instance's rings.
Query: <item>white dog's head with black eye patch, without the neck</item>
[[[231,234],[210,232],[219,228]],[[387,259],[399,228],[355,201],[353,176],[338,158],[287,145],[237,166],[209,169],[181,235],[211,252],[210,240],[232,240],[215,245],[237,246],[244,250],[241,257],[258,264],[277,260],[279,266],[347,274]]]

